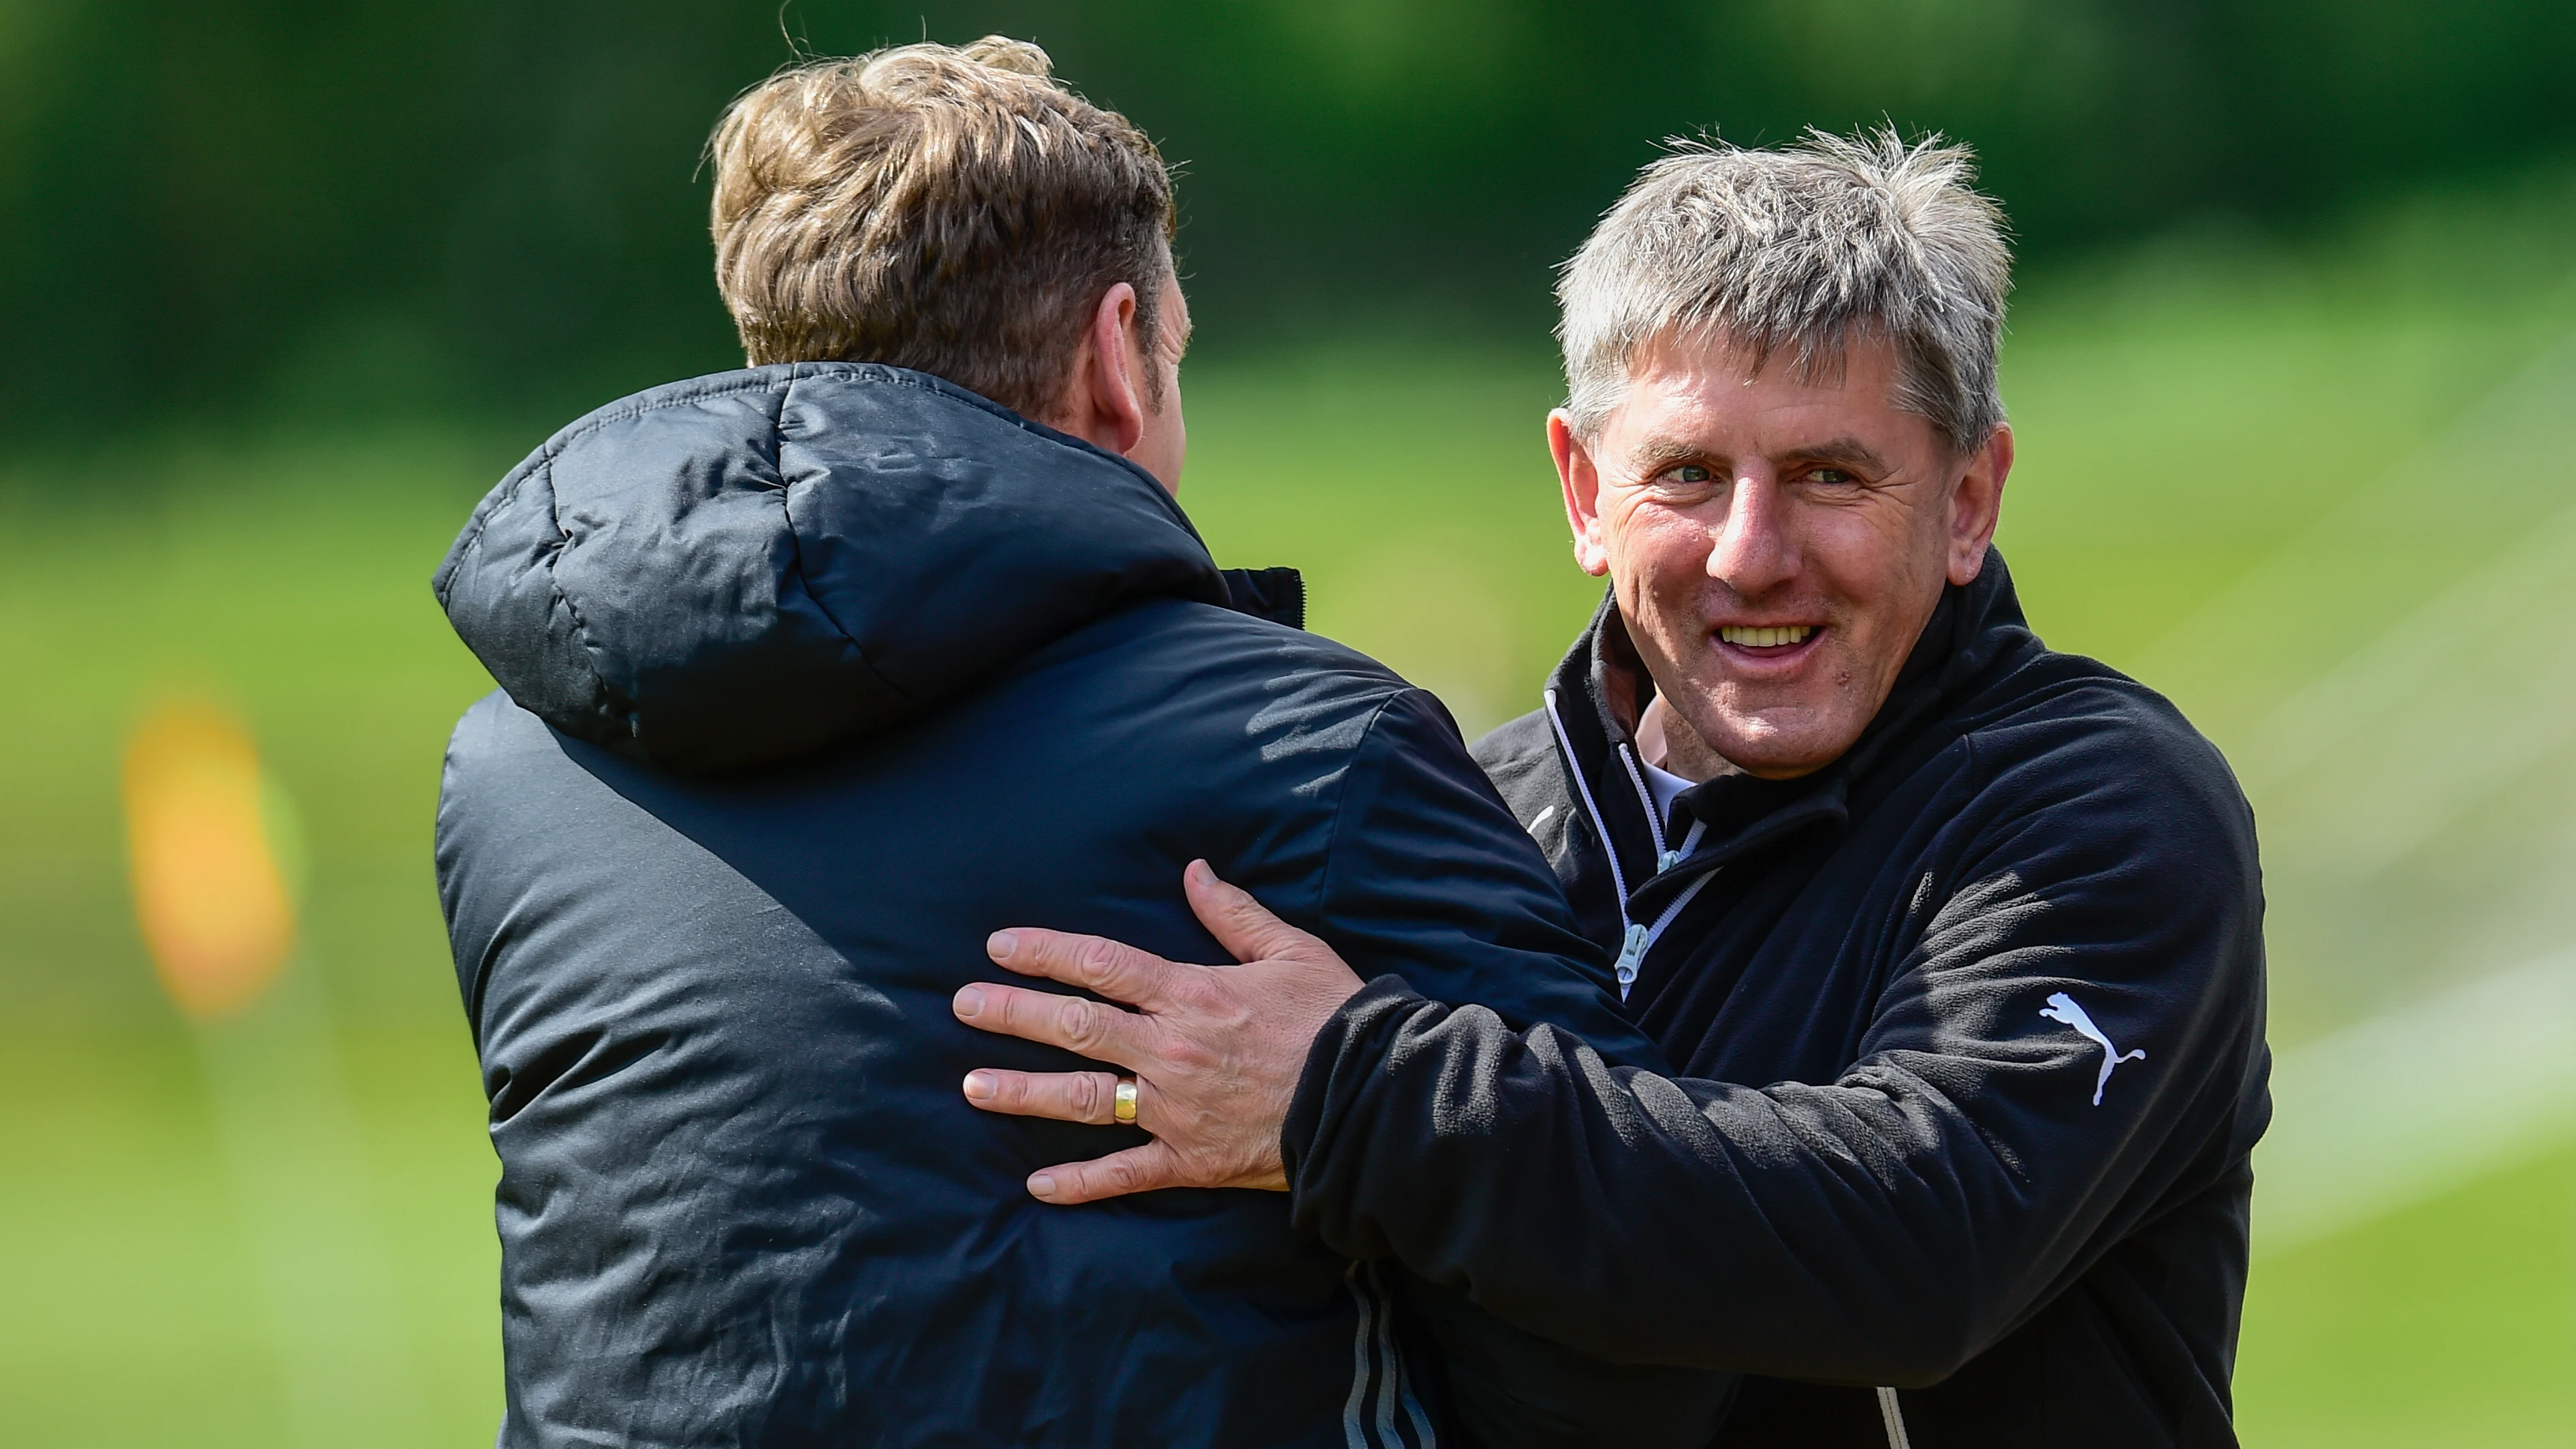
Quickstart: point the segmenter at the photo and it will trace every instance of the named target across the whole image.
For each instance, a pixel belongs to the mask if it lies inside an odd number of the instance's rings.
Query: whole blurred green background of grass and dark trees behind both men
[[[440,741],[489,682],[428,571],[546,430],[734,360],[693,165],[788,57],[778,26],[0,3],[8,1444],[489,1439],[495,1163],[428,867]],[[1303,566],[1319,631],[1471,731],[1530,705],[1597,597],[1538,432],[1546,268],[1662,134],[1963,134],[2025,250],[2002,543],[2050,643],[2239,764],[2285,1071],[2576,942],[2566,8],[786,26],[1036,36],[1188,162],[1182,502],[1221,561]],[[289,983],[204,1029],[144,963],[116,808],[126,728],[178,692],[242,713],[309,854]],[[2409,1086],[2519,1127],[2303,1228],[2267,1235],[2257,1197],[2249,1444],[2568,1441],[2576,1104]]]

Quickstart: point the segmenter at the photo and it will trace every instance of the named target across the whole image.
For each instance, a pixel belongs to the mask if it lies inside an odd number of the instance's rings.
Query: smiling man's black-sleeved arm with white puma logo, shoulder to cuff
[[[1613,1359],[1940,1380],[2262,1125],[2233,782],[2197,736],[2076,726],[1971,772],[1832,1081],[1638,1071],[1381,983],[1298,1086],[1298,1223]],[[2099,1037],[2143,1053],[2102,1107]]]

